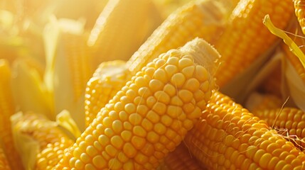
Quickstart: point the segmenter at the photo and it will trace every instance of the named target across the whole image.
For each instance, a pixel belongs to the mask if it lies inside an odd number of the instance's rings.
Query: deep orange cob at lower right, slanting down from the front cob
[[[304,169],[305,154],[245,108],[216,104],[215,95],[186,135],[208,169]]]

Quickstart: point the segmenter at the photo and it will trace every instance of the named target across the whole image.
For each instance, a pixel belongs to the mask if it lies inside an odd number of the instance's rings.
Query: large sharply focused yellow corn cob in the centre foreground
[[[218,57],[199,38],[160,55],[102,108],[56,169],[159,166],[205,108],[214,88],[210,75]]]

